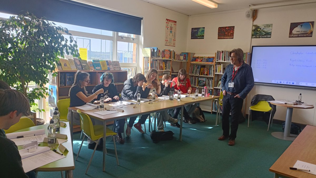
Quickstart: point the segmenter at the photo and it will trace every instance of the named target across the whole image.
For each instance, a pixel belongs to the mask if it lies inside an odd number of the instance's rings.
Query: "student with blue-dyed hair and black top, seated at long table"
[[[100,77],[100,84],[94,86],[92,92],[96,92],[103,88],[103,93],[98,94],[98,97],[94,99],[93,104],[99,104],[101,95],[103,94],[104,103],[107,102],[117,102],[119,98],[119,93],[114,85],[114,77],[111,72],[105,72]],[[124,132],[124,125],[125,125],[125,119],[119,119],[115,120],[115,132],[117,135],[115,135],[115,140],[119,142],[120,144],[124,144],[125,140],[122,137],[122,134]]]

